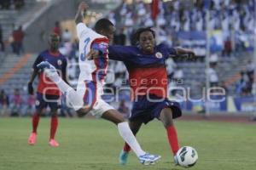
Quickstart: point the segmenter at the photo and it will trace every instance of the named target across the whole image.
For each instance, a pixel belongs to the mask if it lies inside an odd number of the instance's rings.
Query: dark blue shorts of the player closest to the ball
[[[172,109],[172,118],[175,119],[182,116],[180,105],[177,102],[170,101],[169,99],[162,99],[155,95],[149,95],[150,99],[161,99],[161,101],[148,101],[147,96],[139,96],[137,101],[133,103],[131,116],[129,120],[142,120],[145,124],[152,121],[154,118],[159,119],[160,112],[164,108]]]

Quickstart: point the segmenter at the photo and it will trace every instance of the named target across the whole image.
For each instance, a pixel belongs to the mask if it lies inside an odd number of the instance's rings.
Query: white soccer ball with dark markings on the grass
[[[190,146],[183,146],[177,150],[176,157],[182,167],[193,167],[198,159],[196,150]]]

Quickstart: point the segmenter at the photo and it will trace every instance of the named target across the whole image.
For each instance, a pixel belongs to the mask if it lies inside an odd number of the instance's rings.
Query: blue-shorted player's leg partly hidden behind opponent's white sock
[[[129,122],[131,132],[134,134],[134,136],[136,136],[142,124],[143,122],[140,120]],[[119,154],[119,163],[121,165],[125,165],[127,163],[130,150],[131,150],[130,145],[125,142],[125,145]]]

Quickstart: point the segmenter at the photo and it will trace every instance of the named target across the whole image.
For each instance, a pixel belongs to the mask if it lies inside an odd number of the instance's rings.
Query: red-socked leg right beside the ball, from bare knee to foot
[[[177,150],[179,149],[177,141],[177,131],[172,121],[172,109],[165,108],[160,112],[160,121],[163,122],[166,127],[167,138],[172,148],[172,154],[174,156],[174,163],[177,164]]]

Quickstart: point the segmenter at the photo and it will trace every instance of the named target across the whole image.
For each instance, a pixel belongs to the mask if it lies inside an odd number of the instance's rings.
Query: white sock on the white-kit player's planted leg
[[[142,150],[140,144],[138,144],[137,139],[131,132],[128,122],[120,122],[118,124],[119,134],[125,140],[127,144],[131,146],[134,153],[139,156],[143,156],[145,152]]]

